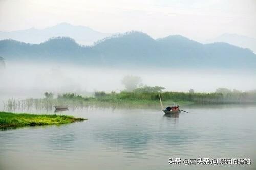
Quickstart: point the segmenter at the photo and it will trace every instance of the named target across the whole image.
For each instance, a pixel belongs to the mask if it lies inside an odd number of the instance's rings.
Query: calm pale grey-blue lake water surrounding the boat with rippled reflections
[[[88,121],[0,131],[0,169],[255,169],[256,106],[68,111]],[[251,165],[169,165],[168,158],[250,158]]]

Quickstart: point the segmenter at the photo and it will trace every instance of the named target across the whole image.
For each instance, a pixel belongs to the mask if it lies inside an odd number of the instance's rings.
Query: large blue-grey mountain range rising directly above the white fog
[[[228,43],[201,44],[181,35],[155,40],[136,31],[105,38],[93,46],[81,46],[69,37],[40,44],[2,40],[0,55],[7,61],[68,62],[85,66],[256,68],[256,55],[248,49]]]

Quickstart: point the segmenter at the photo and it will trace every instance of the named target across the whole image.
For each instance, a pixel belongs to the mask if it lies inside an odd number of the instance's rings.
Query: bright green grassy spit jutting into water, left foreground
[[[66,115],[26,114],[0,112],[0,128],[38,126],[38,125],[59,125],[87,120]]]

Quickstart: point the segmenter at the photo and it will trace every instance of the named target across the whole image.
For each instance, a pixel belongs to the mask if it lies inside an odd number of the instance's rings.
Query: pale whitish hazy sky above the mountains
[[[255,20],[255,0],[0,0],[1,31],[68,22],[100,32],[138,30],[200,41],[225,32],[256,38]]]

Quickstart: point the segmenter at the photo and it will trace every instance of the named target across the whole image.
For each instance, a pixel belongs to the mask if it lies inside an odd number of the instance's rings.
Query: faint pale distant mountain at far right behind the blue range
[[[237,34],[224,33],[214,39],[209,39],[204,41],[204,43],[212,43],[212,42],[226,42],[242,48],[249,48],[256,54],[255,38],[251,38],[243,35],[237,35]]]

